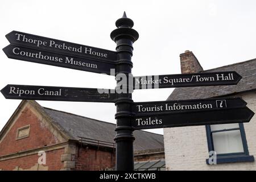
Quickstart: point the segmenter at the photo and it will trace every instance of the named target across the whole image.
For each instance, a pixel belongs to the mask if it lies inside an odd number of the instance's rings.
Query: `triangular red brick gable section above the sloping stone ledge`
[[[16,140],[17,129],[30,125],[29,137]],[[26,107],[0,142],[0,156],[59,143],[40,118]]]

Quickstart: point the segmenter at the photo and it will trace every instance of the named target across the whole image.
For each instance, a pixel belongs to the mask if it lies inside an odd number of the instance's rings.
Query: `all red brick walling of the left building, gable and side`
[[[115,166],[113,149],[68,142],[30,102],[23,102],[7,124],[0,140],[0,169],[103,170]],[[30,125],[28,137],[17,140],[17,130],[27,125]],[[47,161],[43,166],[38,166],[40,150],[46,151]],[[162,151],[161,155],[143,155],[140,159],[151,160],[163,155]]]

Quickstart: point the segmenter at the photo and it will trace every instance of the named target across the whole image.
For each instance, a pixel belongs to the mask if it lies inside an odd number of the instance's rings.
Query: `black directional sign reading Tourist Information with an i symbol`
[[[226,109],[244,107],[246,102],[242,98],[208,98],[200,100],[134,102],[133,113],[138,115],[155,115],[164,113],[184,113],[186,111]]]

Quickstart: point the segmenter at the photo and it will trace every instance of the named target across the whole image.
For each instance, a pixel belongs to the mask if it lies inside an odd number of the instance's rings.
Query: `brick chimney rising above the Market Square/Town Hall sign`
[[[204,71],[192,51],[185,51],[180,54],[181,73],[199,73]]]

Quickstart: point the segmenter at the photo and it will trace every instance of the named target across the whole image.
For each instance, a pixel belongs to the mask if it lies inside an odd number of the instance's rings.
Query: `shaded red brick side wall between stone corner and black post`
[[[94,147],[77,147],[75,170],[105,170],[115,166],[115,152]]]

